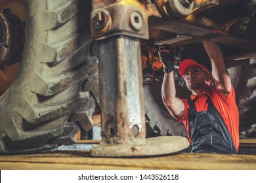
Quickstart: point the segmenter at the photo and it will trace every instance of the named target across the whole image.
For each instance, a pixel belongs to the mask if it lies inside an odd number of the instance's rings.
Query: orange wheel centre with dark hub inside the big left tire
[[[0,99],[20,70],[24,20],[22,0],[0,1]]]

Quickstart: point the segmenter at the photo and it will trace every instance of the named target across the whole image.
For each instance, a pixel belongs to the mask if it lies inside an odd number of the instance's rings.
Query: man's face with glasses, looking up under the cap
[[[183,76],[188,90],[198,90],[205,86],[207,73],[200,67],[190,67]]]

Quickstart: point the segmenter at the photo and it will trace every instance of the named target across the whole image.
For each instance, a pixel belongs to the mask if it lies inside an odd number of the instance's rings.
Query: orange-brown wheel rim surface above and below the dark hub
[[[1,0],[0,11],[2,12],[3,9],[9,9],[11,14],[15,14],[22,21],[25,20],[22,0]],[[15,63],[10,67],[5,66],[0,70],[0,97],[11,86],[12,82],[16,78],[16,75],[18,74],[19,69],[20,63]]]

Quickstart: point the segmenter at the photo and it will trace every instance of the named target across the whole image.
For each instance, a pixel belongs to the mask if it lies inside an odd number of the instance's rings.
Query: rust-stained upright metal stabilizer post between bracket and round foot
[[[106,39],[98,48],[102,140],[120,144],[144,138],[139,40]]]

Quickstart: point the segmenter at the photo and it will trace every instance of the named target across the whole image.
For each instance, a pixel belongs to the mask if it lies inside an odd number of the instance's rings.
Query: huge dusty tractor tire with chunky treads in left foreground
[[[18,73],[0,97],[0,153],[73,144],[80,127],[93,127],[91,86],[97,83],[98,61],[90,50],[91,1],[8,0],[0,5],[11,14],[24,9],[26,26]],[[2,65],[3,75],[7,68]]]

